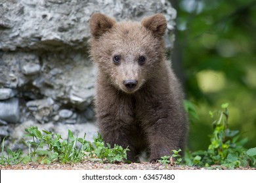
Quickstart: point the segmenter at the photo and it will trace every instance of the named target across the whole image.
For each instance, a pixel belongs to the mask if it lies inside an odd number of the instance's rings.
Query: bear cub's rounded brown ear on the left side
[[[104,14],[96,12],[91,16],[89,24],[91,34],[93,35],[93,37],[98,38],[106,31],[111,29],[116,24],[116,20]]]

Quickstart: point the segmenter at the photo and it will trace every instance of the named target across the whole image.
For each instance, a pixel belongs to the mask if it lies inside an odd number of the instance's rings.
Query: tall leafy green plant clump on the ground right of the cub
[[[209,167],[221,165],[234,169],[237,167],[256,166],[256,148],[244,148],[247,139],[240,139],[239,131],[228,129],[228,103],[221,105],[223,110],[209,112],[211,118],[218,118],[213,122],[213,134],[208,149],[189,153],[186,151],[186,165]]]

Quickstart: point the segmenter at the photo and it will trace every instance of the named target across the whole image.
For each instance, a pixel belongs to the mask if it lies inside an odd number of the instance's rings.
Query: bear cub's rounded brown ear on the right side
[[[154,35],[163,36],[167,28],[167,21],[163,14],[154,14],[143,18],[141,24],[146,27],[146,29],[152,31]]]

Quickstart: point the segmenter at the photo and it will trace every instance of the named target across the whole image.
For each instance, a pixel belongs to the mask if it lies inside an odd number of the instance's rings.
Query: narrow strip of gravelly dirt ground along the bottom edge
[[[85,161],[75,164],[58,164],[40,165],[28,163],[27,165],[0,165],[1,170],[207,170],[207,167],[188,167],[184,165],[161,165],[160,163],[98,163]],[[211,167],[211,169],[226,169],[225,167]],[[251,167],[240,167],[241,170],[256,170]]]

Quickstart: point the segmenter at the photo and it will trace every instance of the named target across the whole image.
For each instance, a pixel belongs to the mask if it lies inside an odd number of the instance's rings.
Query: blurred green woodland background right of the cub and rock
[[[205,150],[209,110],[229,103],[229,127],[256,146],[256,1],[171,1],[177,9],[173,66],[199,120],[190,122],[190,150]]]

